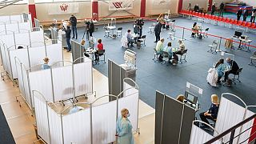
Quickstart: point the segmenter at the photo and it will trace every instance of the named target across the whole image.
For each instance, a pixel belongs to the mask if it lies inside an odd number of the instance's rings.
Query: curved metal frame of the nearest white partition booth
[[[129,79],[129,78],[127,78],[126,80],[131,80],[132,82],[134,82],[132,79]],[[139,90],[138,89],[138,85],[137,85],[137,83],[135,83],[134,82],[134,85],[135,86],[132,86],[132,87],[130,87],[130,88],[128,88],[128,89],[126,89],[126,90],[130,90],[130,89],[136,89],[136,90]],[[63,117],[63,113],[66,111],[66,110],[68,110],[70,107],[72,107],[72,106],[77,106],[77,105],[87,105],[87,106],[90,106],[89,108],[84,108],[83,110],[86,110],[86,109],[90,109],[90,143],[91,144],[93,144],[94,142],[93,142],[93,131],[94,131],[94,128],[93,128],[93,106],[94,106],[94,103],[95,102],[98,102],[98,100],[99,99],[101,99],[101,98],[106,98],[106,97],[114,97],[114,98],[116,98],[116,101],[117,101],[117,109],[116,109],[116,120],[118,119],[118,99],[119,99],[119,97],[126,91],[126,90],[123,90],[120,94],[118,94],[118,96],[115,96],[115,95],[113,95],[113,94],[107,94],[107,95],[103,95],[102,97],[99,97],[99,98],[97,98],[97,99],[95,99],[94,100],[94,102],[90,102],[90,103],[88,103],[88,102],[77,102],[77,103],[74,103],[74,104],[72,104],[71,106],[68,106],[68,107],[66,107],[64,110],[62,110],[62,112],[60,112],[60,113],[58,113],[58,112],[56,112],[55,111],[55,113],[57,113],[57,114],[59,114],[60,115],[60,118],[61,118],[61,133],[62,133],[62,143],[65,143],[64,142],[64,131],[63,131],[63,123],[62,123],[62,117]],[[35,96],[34,95],[34,93],[35,92],[37,92],[39,95],[40,95],[40,97],[42,97],[43,98],[43,100],[45,101],[45,103],[46,103],[46,114],[47,114],[47,120],[48,120],[48,129],[47,130],[49,130],[49,138],[51,138],[50,137],[50,122],[49,122],[49,114],[48,114],[48,108],[49,108],[49,105],[50,104],[53,104],[54,106],[56,106],[55,105],[55,103],[54,102],[50,102],[50,101],[46,101],[46,98],[44,98],[44,96],[42,95],[42,93],[40,93],[38,90],[32,90],[32,93],[33,93],[33,96]],[[42,99],[41,98],[41,99]],[[139,91],[138,91],[138,102],[139,102]],[[100,105],[102,105],[102,104],[100,104]],[[57,107],[57,106],[56,106]],[[36,115],[36,117],[35,117],[35,119],[37,119],[37,114],[35,114]],[[37,122],[37,120],[36,120],[36,122]],[[137,115],[137,126],[138,126],[138,115]],[[136,128],[136,132],[138,132],[138,127]],[[42,142],[44,142],[44,140],[40,137],[40,135],[37,135],[38,136],[38,140],[36,141],[36,142],[38,142],[38,141],[42,141]]]

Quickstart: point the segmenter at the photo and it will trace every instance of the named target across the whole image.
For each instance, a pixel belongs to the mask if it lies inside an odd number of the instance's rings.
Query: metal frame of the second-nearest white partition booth
[[[82,58],[84,58],[84,57],[82,57]],[[82,58],[78,58],[77,60],[79,60],[79,59],[82,59]],[[19,59],[18,58],[16,58],[15,57],[15,62],[16,62],[16,60],[18,60],[18,62],[20,62],[19,61]],[[75,60],[75,61],[77,61],[77,60]],[[72,98],[67,98],[67,99],[62,99],[62,101],[60,101],[60,102],[62,102],[62,104],[63,105],[65,105],[64,104],[64,102],[65,101],[69,101],[69,100],[76,100],[76,101],[78,101],[76,98],[78,98],[78,97],[81,97],[81,96],[83,96],[83,95],[79,95],[79,96],[76,96],[75,94],[75,82],[74,82],[74,75],[75,75],[75,73],[74,73],[74,65],[76,65],[75,64],[75,61],[74,62],[70,62],[70,61],[58,61],[58,62],[54,62],[54,64],[52,65],[52,66],[50,66],[50,78],[51,78],[51,89],[52,89],[52,96],[53,96],[53,102],[55,102],[55,98],[54,98],[54,76],[53,76],[53,72],[52,72],[52,70],[54,69],[54,68],[56,68],[56,67],[62,67],[62,66],[65,66],[65,63],[64,62],[68,62],[68,63],[70,63],[70,65],[68,65],[68,66],[71,66],[72,67],[72,85],[73,85],[73,97]],[[62,62],[62,65],[58,65],[60,62]],[[91,63],[91,62],[90,62]],[[21,96],[22,96],[22,98],[25,100],[25,102],[26,102],[26,104],[30,107],[30,110],[32,110],[32,108],[34,108],[34,103],[32,103],[33,102],[33,100],[32,100],[32,94],[31,94],[31,87],[30,87],[30,76],[29,76],[29,74],[30,74],[30,72],[33,72],[33,71],[37,71],[37,70],[42,70],[42,68],[41,68],[41,66],[42,66],[42,64],[38,64],[38,65],[34,65],[34,66],[31,66],[30,68],[26,68],[26,66],[24,66],[24,64],[22,63],[22,62],[20,62],[20,65],[22,66],[23,65],[23,67],[25,68],[25,70],[26,71],[22,71],[22,80],[20,80],[20,82],[22,81],[23,82],[23,86],[25,86],[25,83],[24,83],[24,81],[23,81],[23,79],[24,79],[24,77],[26,76],[27,77],[27,85],[28,85],[28,90],[29,90],[29,96],[27,96],[27,97],[29,97],[30,98],[30,102],[31,102],[31,106],[30,106],[30,104],[28,103],[28,101],[27,101],[27,99],[26,99],[26,92],[24,92],[24,94],[25,95],[23,95],[22,93],[21,93]],[[17,65],[16,65],[17,66]],[[39,68],[37,68],[38,66],[40,66]],[[35,67],[35,69],[34,69],[34,67]],[[33,70],[34,69],[34,70]],[[16,67],[16,70],[17,70],[17,67]],[[24,69],[22,69],[22,70],[24,70]],[[26,73],[26,75],[24,74],[24,73]],[[94,94],[94,97],[96,97],[96,92],[94,91],[94,87],[93,87],[93,69],[92,69],[92,66],[91,66],[91,83],[92,83],[92,86],[91,86],[91,93],[86,93],[86,94],[84,94],[84,96],[86,97],[86,98],[88,98],[88,95],[89,94]],[[19,86],[19,88],[21,89],[22,88],[22,86]],[[23,87],[23,89],[25,89],[24,87]],[[25,91],[25,90],[24,90]],[[33,90],[32,90],[33,91]],[[20,91],[21,92],[21,91]],[[17,102],[19,102],[18,101],[18,98],[16,97],[16,100],[17,100]],[[75,102],[75,101],[74,101]],[[21,106],[21,102],[19,102],[19,105]]]

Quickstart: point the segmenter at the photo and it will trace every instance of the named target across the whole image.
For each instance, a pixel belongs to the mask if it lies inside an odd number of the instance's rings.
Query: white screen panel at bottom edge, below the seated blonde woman
[[[198,126],[193,125],[191,134],[190,134],[190,144],[203,144],[210,139],[214,138],[214,136],[208,134],[205,130],[202,130]],[[222,142],[217,141],[214,144],[221,144]]]

